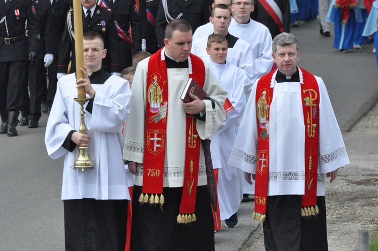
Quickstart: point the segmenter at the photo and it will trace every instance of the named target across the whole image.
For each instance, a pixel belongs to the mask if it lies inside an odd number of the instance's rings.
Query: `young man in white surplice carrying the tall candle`
[[[53,158],[65,156],[61,199],[65,211],[66,250],[124,250],[128,174],[122,160],[122,124],[130,111],[129,82],[106,73],[101,35],[84,34],[84,79],[59,79],[47,121],[45,144]],[[76,84],[75,84],[76,83]],[[77,87],[90,100],[84,105],[87,133],[81,134]],[[94,169],[74,169],[77,146],[88,147]],[[130,175],[130,174],[129,174]],[[91,249],[91,250],[92,250]]]

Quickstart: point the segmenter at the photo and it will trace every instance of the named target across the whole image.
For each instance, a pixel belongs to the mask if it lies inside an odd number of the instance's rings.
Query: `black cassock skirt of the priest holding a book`
[[[178,224],[182,187],[164,187],[164,204],[140,204],[142,186],[134,185],[130,250],[214,250],[214,220],[207,186],[198,186],[197,221]]]

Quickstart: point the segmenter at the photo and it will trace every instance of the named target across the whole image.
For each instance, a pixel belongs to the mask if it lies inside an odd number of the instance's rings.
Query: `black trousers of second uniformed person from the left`
[[[29,91],[30,113],[29,120],[38,121],[41,118],[41,103],[43,88],[46,87],[46,68],[43,60],[30,64],[29,62]]]

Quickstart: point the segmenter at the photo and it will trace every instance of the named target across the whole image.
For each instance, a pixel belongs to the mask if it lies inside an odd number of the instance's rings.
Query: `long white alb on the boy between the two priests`
[[[245,83],[249,82],[249,79],[244,71],[227,61],[226,64],[220,65],[210,60],[209,66],[221,86],[227,91],[227,96],[235,108],[227,113],[226,120],[210,139],[213,165],[214,162],[218,163],[220,160],[222,167],[219,169],[217,190],[221,220],[225,220],[237,212],[243,197],[241,181],[244,178],[244,173],[239,168],[228,165],[227,162],[236,138],[237,122],[245,108],[243,87]]]

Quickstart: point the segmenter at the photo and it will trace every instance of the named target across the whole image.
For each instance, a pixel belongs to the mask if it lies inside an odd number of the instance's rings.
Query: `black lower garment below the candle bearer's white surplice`
[[[66,250],[119,250],[126,245],[127,200],[64,200]]]

